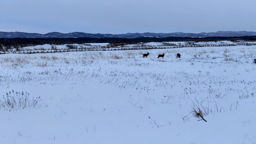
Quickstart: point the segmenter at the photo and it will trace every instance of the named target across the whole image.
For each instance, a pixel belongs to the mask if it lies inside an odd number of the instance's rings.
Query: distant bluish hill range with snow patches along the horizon
[[[201,32],[201,33],[126,33],[126,34],[92,34],[83,32],[59,33],[50,32],[46,34],[26,33],[26,32],[0,32],[0,38],[165,38],[165,37],[242,37],[256,36],[253,31],[217,31],[217,32]]]

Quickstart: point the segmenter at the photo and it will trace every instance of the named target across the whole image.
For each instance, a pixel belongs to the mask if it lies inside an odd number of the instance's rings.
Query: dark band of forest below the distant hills
[[[13,47],[25,47],[43,44],[82,44],[110,43],[110,45],[135,44],[139,42],[182,42],[182,41],[255,41],[256,36],[243,37],[166,37],[166,38],[0,38],[0,51]]]

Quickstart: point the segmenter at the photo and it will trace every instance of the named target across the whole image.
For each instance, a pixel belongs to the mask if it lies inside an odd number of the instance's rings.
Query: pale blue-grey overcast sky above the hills
[[[1,0],[0,31],[256,31],[256,0]]]

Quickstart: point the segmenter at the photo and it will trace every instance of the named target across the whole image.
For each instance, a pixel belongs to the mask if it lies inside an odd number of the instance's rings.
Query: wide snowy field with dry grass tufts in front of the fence
[[[255,58],[256,46],[3,54],[0,142],[254,144]]]

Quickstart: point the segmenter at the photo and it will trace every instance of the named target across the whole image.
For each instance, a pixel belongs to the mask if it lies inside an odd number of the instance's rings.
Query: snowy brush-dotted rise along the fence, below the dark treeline
[[[69,46],[72,47],[69,47]],[[10,49],[3,53],[51,53],[68,51],[110,51],[110,50],[130,50],[130,49],[161,49],[177,47],[204,47],[204,46],[235,46],[235,45],[256,45],[256,41],[207,41],[207,42],[147,42],[128,44],[116,47],[110,47],[109,43],[84,43],[84,44],[64,44],[64,45],[36,45],[27,47],[18,47]]]

